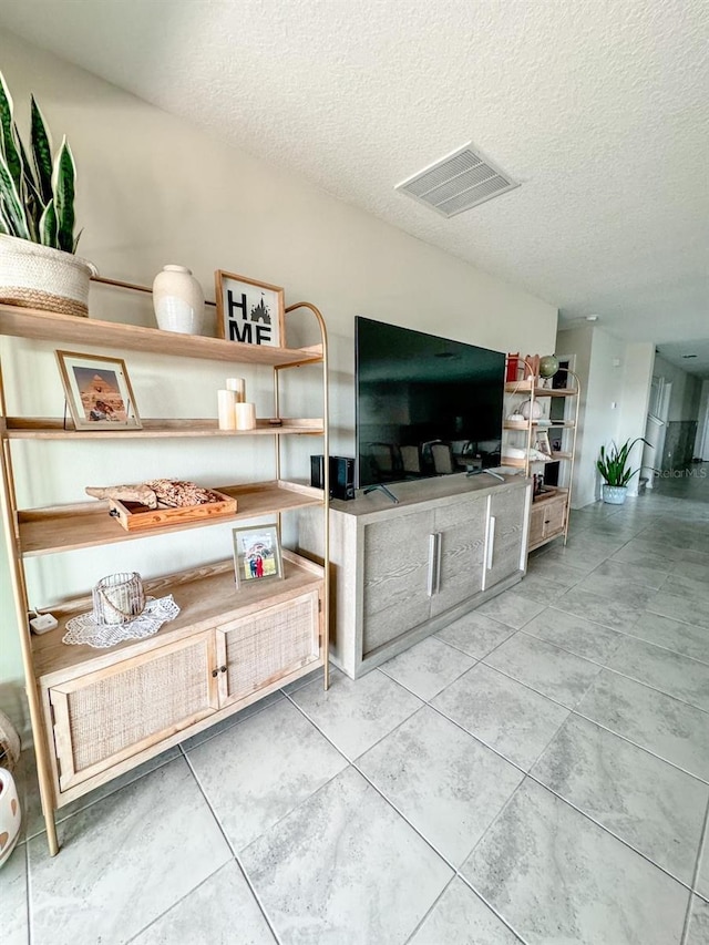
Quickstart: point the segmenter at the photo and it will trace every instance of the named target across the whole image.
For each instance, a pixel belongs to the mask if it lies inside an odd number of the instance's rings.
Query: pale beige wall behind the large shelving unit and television
[[[501,351],[553,349],[556,309],[547,302],[8,34],[0,34],[0,61],[18,113],[27,119],[33,91],[54,137],[70,138],[85,228],[80,254],[103,275],[150,284],[165,263],[179,263],[213,298],[214,270],[226,269],[285,286],[287,304],[309,299],[321,308],[331,341],[333,452],[353,452],[356,315]],[[114,291],[97,290],[91,306],[96,317],[154,323],[146,301],[137,299],[127,312]],[[288,339],[301,340],[307,338]],[[10,412],[61,415],[53,346],[39,346],[38,362],[37,346],[14,339],[2,345],[10,356]],[[216,415],[223,367],[114,353],[126,360],[142,414]],[[248,382],[258,412],[268,415],[270,378],[254,372]],[[318,442],[306,443],[301,454],[317,452]],[[271,456],[270,446],[240,441],[236,448],[224,440],[199,448],[193,441],[17,446],[21,506],[81,500],[85,485],[157,474],[205,484],[246,481],[261,477]],[[30,593],[43,606],[115,571],[147,577],[228,554],[228,526],[72,552],[34,559]],[[17,679],[14,617],[7,586],[0,588],[0,680]]]

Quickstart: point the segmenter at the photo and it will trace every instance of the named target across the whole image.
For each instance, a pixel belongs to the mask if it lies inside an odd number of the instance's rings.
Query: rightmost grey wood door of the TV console
[[[527,541],[530,487],[490,496],[485,548],[485,589],[523,568]],[[526,551],[526,549],[524,549]]]

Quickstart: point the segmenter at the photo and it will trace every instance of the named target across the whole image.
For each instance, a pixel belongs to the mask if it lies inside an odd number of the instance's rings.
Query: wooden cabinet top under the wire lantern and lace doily
[[[152,649],[157,637],[162,638],[163,643],[169,643],[198,629],[208,629],[234,619],[239,616],[235,613],[239,609],[277,604],[284,595],[291,595],[294,590],[306,592],[321,582],[321,567],[289,552],[284,552],[282,579],[247,584],[239,590],[236,588],[233,561],[146,581],[146,594],[153,597],[173,595],[181,608],[178,616],[163,624],[152,637],[144,640],[124,640],[109,649],[62,643],[66,622],[76,614],[92,610],[91,596],[66,602],[60,607],[52,607],[52,614],[59,620],[55,630],[41,636],[32,635],[34,672],[38,679],[52,675],[53,678],[43,681],[55,685],[59,681],[58,674],[63,674],[64,677],[73,675],[71,670],[74,667],[81,667],[82,672],[103,669],[124,658],[124,650],[129,648],[131,656],[138,655]]]

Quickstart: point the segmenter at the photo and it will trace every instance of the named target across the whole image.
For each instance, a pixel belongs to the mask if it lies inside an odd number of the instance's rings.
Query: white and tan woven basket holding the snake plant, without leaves
[[[0,302],[60,315],[89,315],[89,283],[97,270],[71,253],[0,235]]]

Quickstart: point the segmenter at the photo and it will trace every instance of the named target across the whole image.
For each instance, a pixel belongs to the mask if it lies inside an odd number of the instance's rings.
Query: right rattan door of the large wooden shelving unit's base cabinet
[[[309,590],[218,626],[220,706],[228,706],[320,658],[320,596]]]

